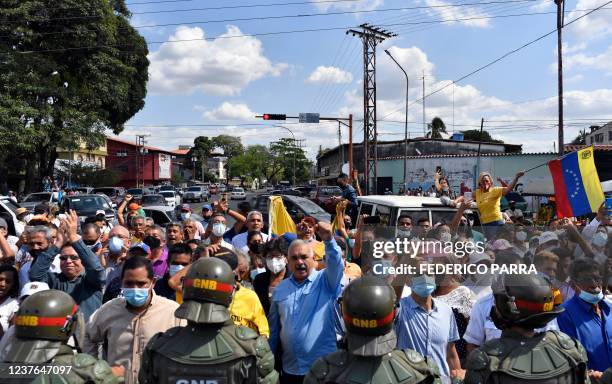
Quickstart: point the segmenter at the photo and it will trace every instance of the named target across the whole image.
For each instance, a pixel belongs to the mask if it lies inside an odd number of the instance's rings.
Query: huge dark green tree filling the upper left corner
[[[27,190],[57,147],[97,147],[143,108],[148,49],[129,17],[124,0],[0,4],[0,164],[23,158]]]

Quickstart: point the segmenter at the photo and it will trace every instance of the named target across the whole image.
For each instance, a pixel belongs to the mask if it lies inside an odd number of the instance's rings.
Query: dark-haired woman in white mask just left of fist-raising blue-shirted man
[[[284,238],[277,237],[266,243],[263,253],[266,271],[257,275],[253,280],[253,288],[266,312],[266,316],[270,311],[272,292],[281,281],[289,277],[287,257],[283,252],[284,241]]]

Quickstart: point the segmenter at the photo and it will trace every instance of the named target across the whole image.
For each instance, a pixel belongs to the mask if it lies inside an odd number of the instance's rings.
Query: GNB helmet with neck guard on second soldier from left
[[[228,263],[217,257],[199,259],[183,280],[183,304],[176,317],[201,324],[226,322],[234,284],[234,271]]]

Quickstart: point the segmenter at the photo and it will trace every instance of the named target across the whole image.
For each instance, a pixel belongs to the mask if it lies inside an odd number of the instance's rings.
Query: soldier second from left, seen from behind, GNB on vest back
[[[250,328],[234,325],[229,305],[235,277],[216,257],[192,264],[183,281],[183,304],[176,310],[185,327],[158,333],[142,356],[141,384],[278,382],[268,341]]]

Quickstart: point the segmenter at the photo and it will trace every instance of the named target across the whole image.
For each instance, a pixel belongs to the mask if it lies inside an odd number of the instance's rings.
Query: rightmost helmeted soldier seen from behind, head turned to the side
[[[504,274],[493,284],[491,319],[502,336],[467,358],[466,384],[589,383],[586,351],[559,331],[536,333],[564,311],[539,274]]]

